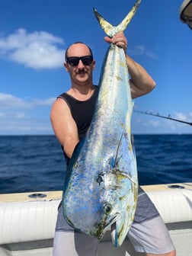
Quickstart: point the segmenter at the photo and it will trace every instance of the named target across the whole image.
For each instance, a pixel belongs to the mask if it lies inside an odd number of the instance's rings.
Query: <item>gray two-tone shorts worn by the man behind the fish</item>
[[[147,194],[139,188],[136,215],[128,232],[130,242],[136,251],[151,254],[165,254],[174,250],[168,229]],[[76,232],[62,216],[59,206],[53,256],[97,255],[98,239]]]

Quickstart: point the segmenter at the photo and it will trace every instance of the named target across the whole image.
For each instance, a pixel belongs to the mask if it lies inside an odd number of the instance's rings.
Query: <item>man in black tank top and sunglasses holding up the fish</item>
[[[112,39],[104,37],[104,40],[122,47],[126,53],[127,41],[122,32],[114,35]],[[152,91],[155,82],[146,70],[127,55],[126,62],[131,76],[132,98]],[[72,86],[54,102],[51,123],[68,164],[75,146],[85,136],[91,123],[98,88],[92,82],[95,61],[91,49],[84,43],[73,43],[69,46],[64,66],[66,72],[69,72]],[[165,224],[142,190],[139,190],[136,217],[128,236],[136,251],[145,252],[147,256],[175,255]],[[59,206],[53,255],[93,256],[97,254],[97,248],[98,239],[72,229],[62,216],[62,206]]]

